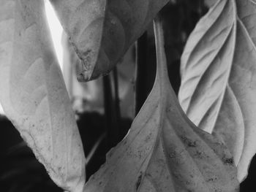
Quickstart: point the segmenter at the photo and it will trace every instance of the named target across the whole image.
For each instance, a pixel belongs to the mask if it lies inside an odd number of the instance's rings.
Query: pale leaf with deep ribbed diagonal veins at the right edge
[[[181,107],[199,128],[223,138],[240,181],[256,152],[255,20],[255,2],[218,1],[181,58]]]

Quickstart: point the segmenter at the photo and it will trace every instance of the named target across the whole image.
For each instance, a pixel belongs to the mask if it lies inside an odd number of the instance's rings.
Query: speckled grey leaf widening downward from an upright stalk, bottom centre
[[[84,192],[237,191],[229,150],[184,115],[171,88],[159,18],[157,77],[127,137],[86,183]]]

